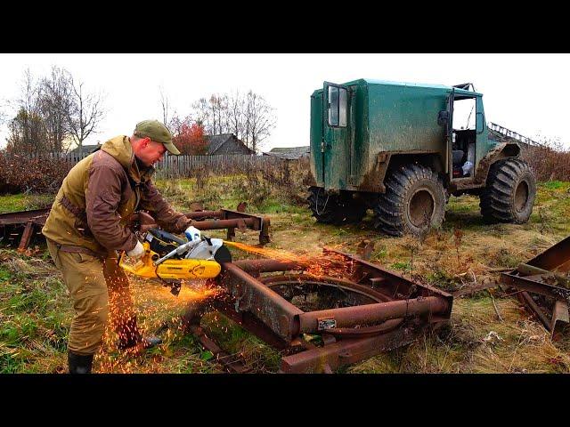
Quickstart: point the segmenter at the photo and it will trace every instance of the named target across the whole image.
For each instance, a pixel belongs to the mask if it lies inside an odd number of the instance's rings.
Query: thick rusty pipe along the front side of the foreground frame
[[[444,313],[447,309],[448,303],[443,298],[427,296],[340,309],[310,311],[299,315],[299,326],[300,333],[311,334],[322,332],[323,329],[319,329],[319,321],[323,319],[334,319],[335,327],[351,327],[383,322],[392,318],[403,318],[406,315]]]

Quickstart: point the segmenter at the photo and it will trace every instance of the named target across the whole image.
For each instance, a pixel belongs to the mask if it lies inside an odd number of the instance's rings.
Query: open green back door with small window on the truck
[[[325,189],[346,189],[353,174],[351,87],[325,82],[322,106],[322,172]]]

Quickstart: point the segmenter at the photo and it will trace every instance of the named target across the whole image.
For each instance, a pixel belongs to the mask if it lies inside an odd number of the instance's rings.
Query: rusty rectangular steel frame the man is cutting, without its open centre
[[[305,312],[272,289],[280,283],[279,278],[288,277],[287,273],[310,270],[331,254],[346,267],[346,277],[334,279],[335,283],[377,295],[377,302]],[[210,310],[222,312],[274,348],[294,353],[282,357],[282,373],[332,372],[405,345],[425,327],[442,326],[451,316],[451,294],[412,282],[351,254],[325,249],[323,255],[305,261],[224,263],[223,273],[216,278],[224,294],[208,302]],[[278,272],[283,275],[263,276]],[[196,327],[202,314],[187,313],[185,320]],[[320,335],[323,345],[306,341],[305,334]]]

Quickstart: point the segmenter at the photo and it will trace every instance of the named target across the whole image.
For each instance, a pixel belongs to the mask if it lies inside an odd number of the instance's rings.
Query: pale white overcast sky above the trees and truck
[[[162,117],[159,86],[180,116],[212,93],[253,90],[275,109],[277,127],[264,149],[309,144],[310,95],[323,81],[357,78],[457,85],[483,93],[485,117],[530,138],[559,139],[570,148],[567,109],[570,54],[0,54],[0,112],[17,98],[24,71],[66,68],[89,92],[106,93],[108,114],[86,143],[130,135],[146,118]],[[0,129],[5,146],[6,126]]]

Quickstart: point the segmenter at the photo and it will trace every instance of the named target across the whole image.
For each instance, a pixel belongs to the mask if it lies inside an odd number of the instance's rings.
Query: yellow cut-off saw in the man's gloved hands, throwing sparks
[[[232,262],[232,254],[221,238],[184,240],[158,228],[146,228],[142,237],[142,258],[132,262],[123,252],[118,265],[141,278],[161,279],[175,295],[180,292],[182,280],[216,278],[222,270],[220,263]]]

